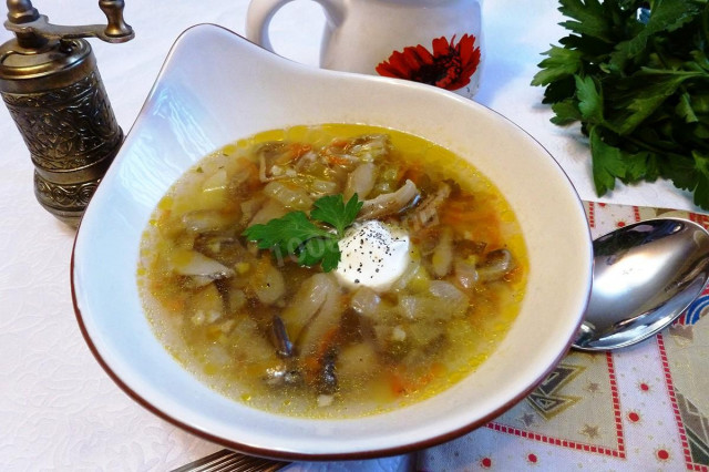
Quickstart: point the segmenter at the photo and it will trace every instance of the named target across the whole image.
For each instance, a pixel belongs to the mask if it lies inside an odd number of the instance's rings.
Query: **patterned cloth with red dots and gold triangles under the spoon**
[[[586,203],[594,237],[658,216],[709,216]],[[709,471],[709,289],[669,328],[615,353],[572,351],[525,400],[418,454],[418,470]],[[530,342],[534,342],[533,339]]]

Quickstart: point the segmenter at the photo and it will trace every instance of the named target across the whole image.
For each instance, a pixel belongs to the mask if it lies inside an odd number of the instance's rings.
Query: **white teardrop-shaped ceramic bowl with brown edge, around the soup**
[[[528,286],[499,349],[450,390],[380,415],[292,419],[222,397],[163,349],[141,308],[138,245],[157,201],[195,161],[259,131],[331,122],[393,127],[471,160],[516,212],[530,256]],[[242,452],[316,460],[433,445],[515,404],[568,349],[590,274],[590,237],[573,186],[549,154],[503,116],[428,85],[304,66],[222,28],[197,25],[175,43],[91,201],[71,275],[86,342],[138,403]]]

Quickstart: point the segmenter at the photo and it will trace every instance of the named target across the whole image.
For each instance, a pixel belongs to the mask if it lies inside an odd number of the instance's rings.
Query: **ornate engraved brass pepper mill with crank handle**
[[[7,0],[0,47],[0,94],[30,150],[34,195],[62,222],[76,226],[123,142],[88,41],[133,39],[123,0],[100,0],[107,25],[51,24],[29,0]]]

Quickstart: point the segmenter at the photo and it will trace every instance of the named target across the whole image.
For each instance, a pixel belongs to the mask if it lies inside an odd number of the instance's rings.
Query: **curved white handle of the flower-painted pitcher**
[[[251,0],[246,12],[246,38],[267,50],[275,52],[270,43],[268,27],[276,12],[294,0]],[[325,10],[330,25],[338,25],[343,18],[345,6],[339,0],[315,0]]]

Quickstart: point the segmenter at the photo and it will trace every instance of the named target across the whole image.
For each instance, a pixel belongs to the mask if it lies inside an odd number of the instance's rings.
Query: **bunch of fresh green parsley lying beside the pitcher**
[[[553,123],[580,121],[598,195],[664,177],[709,209],[709,0],[559,2],[571,34],[532,85],[546,86]]]

